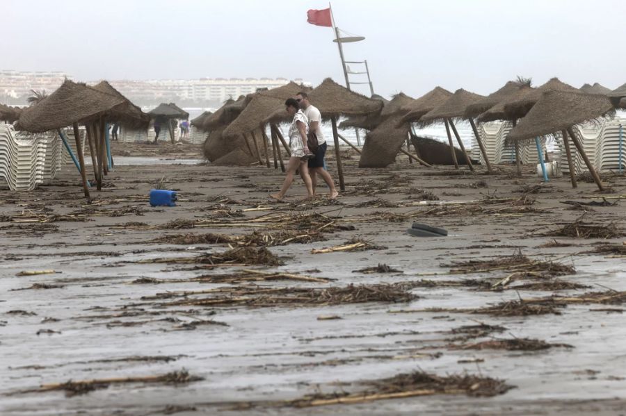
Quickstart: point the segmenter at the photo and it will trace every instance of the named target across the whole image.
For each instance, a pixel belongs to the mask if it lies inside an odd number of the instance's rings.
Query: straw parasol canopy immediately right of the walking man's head
[[[350,91],[342,85],[326,78],[309,94],[309,101],[316,106],[322,117],[339,117],[340,115],[367,115],[377,113],[383,108],[380,100],[367,98]]]

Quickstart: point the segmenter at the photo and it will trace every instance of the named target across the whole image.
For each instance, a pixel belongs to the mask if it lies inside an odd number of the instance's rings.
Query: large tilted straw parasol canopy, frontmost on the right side
[[[612,111],[613,105],[605,95],[545,91],[506,140],[527,140],[556,133]]]

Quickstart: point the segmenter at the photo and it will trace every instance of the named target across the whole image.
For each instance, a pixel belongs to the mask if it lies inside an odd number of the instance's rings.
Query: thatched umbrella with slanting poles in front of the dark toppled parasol
[[[451,97],[449,97],[449,99],[447,99],[444,103],[442,103],[442,105],[429,111],[428,113],[426,113],[419,119],[419,122],[422,124],[430,124],[434,122],[447,123],[446,131],[448,134],[448,140],[450,142],[450,148],[454,152],[454,147],[452,146],[452,138],[447,127],[449,124],[449,126],[452,128],[452,131],[454,131],[456,141],[458,142],[458,145],[461,151],[463,151],[463,154],[465,155],[465,160],[467,160],[467,166],[470,167],[470,170],[474,170],[474,167],[472,166],[472,162],[470,161],[470,156],[468,156],[467,151],[465,151],[463,140],[460,139],[460,135],[458,135],[458,131],[456,131],[456,126],[454,126],[454,122],[452,121],[452,119],[463,119],[465,115],[465,109],[467,108],[467,106],[477,103],[484,98],[485,97],[483,95],[474,94],[474,92],[469,92],[469,91],[463,90],[463,88],[460,88],[459,90],[456,90],[454,94],[452,94]],[[481,143],[481,138],[477,132],[475,133],[475,135],[476,135],[476,140],[478,140],[479,143]],[[481,146],[481,150],[483,149],[484,147]],[[454,159],[456,159],[456,154],[455,153],[452,153],[452,154],[455,156]],[[483,153],[483,157],[485,157],[485,160],[488,160],[486,159],[487,158],[486,152]],[[488,165],[488,169],[491,169],[490,165]]]

